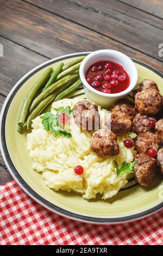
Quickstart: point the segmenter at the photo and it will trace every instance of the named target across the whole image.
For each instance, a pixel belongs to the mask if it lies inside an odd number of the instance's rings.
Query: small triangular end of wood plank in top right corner
[[[143,11],[147,11],[149,14],[153,14],[163,19],[163,1],[162,0],[121,0],[121,2],[130,4],[133,7],[139,8]]]

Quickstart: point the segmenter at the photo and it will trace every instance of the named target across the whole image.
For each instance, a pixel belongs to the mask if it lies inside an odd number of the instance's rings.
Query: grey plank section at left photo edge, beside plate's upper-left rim
[[[0,36],[3,57],[0,57],[0,93],[8,95],[15,83],[35,66],[48,60]]]

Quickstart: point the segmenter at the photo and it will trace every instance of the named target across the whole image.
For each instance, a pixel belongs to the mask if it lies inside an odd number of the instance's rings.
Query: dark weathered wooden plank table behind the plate
[[[63,54],[111,48],[162,71],[162,20],[162,0],[0,0],[0,108],[24,74]],[[10,180],[0,155],[0,185]]]

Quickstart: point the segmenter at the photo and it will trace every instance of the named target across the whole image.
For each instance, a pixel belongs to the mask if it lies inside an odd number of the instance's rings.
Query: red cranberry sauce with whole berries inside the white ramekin
[[[121,93],[129,87],[128,72],[118,63],[103,60],[91,65],[86,71],[86,81],[103,93]]]

